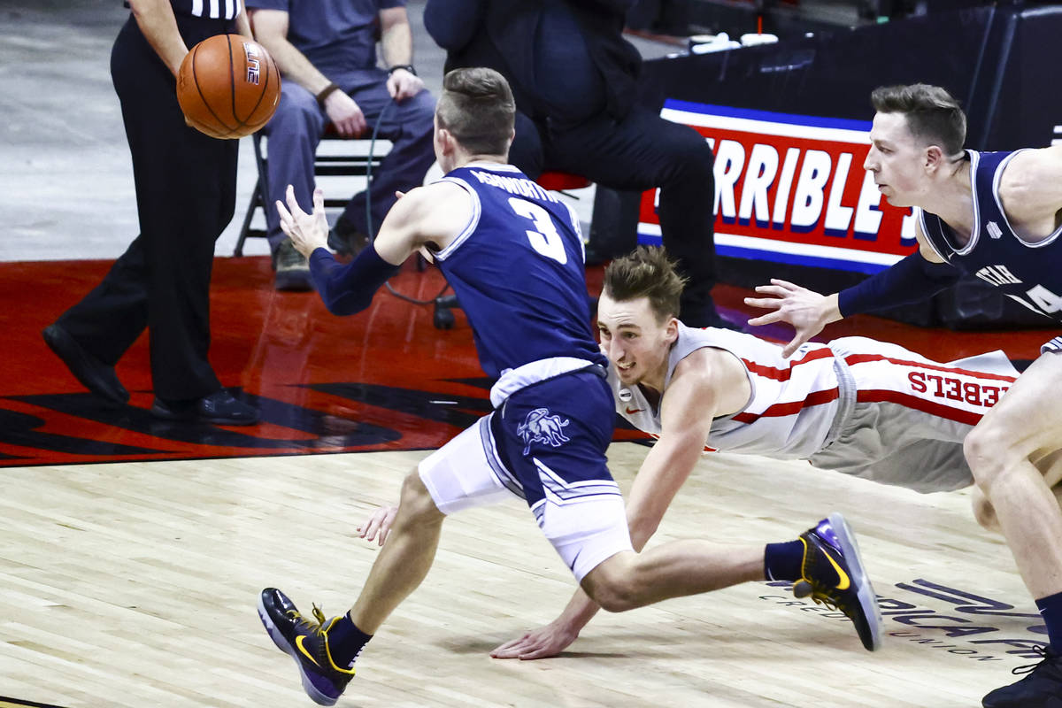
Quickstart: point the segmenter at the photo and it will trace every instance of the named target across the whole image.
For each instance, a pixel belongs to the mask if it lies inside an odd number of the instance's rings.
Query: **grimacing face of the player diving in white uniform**
[[[598,334],[623,385],[649,379],[662,383],[668,352],[674,342],[674,320],[661,323],[648,297],[616,300],[602,293],[598,300]]]

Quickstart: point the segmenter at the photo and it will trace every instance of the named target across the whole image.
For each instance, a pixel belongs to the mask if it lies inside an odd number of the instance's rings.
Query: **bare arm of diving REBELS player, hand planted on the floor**
[[[675,367],[661,401],[661,437],[646,455],[627,502],[631,543],[640,551],[704,452],[720,399],[713,360],[723,352],[699,349]],[[729,356],[729,355],[723,355]],[[743,403],[743,400],[742,400]],[[541,659],[556,656],[579,637],[599,606],[580,588],[549,624],[501,644],[491,656]]]

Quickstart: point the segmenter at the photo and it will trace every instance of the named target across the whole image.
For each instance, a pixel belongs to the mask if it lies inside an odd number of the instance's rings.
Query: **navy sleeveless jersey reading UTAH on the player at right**
[[[940,217],[922,212],[922,230],[941,258],[991,283],[1025,307],[1062,320],[1062,227],[1030,243],[1014,232],[999,203],[1004,168],[1021,151],[978,153],[967,150],[974,190],[974,230],[959,246]]]

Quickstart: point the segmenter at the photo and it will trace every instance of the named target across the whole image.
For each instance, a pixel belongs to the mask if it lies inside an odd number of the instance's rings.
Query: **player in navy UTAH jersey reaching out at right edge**
[[[995,286],[1030,310],[1062,318],[1062,146],[963,150],[966,117],[943,88],[915,84],[871,94],[877,111],[863,167],[889,204],[915,207],[919,253],[863,282],[823,296],[783,280],[746,303],[787,322],[791,353],[856,312],[926,299],[962,276]],[[1047,625],[1044,660],[984,696],[986,708],[1062,705],[1062,338],[1045,344],[965,441],[978,489],[995,510],[1026,586]]]

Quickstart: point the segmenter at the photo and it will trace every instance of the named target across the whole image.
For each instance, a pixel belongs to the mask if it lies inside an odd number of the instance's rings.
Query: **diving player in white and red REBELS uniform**
[[[921,493],[973,484],[962,441],[1017,377],[1003,352],[942,364],[895,344],[847,336],[805,344],[787,358],[752,334],[686,327],[675,318],[683,284],[662,248],[638,246],[605,269],[598,304],[616,411],[657,437],[627,500],[635,547],[656,531],[705,444],[807,459]],[[362,538],[378,536],[382,546],[394,508],[377,510],[359,529]],[[993,528],[983,499],[975,516]],[[784,551],[785,545],[769,546],[768,565]],[[578,591],[560,617],[492,656],[555,656],[597,610]]]

